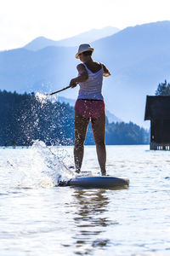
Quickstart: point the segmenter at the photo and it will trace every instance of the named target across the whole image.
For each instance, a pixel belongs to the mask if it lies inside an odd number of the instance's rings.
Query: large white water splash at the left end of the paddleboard
[[[26,158],[28,160],[28,158]],[[29,163],[20,166],[20,187],[39,188],[58,186],[62,181],[75,177],[69,168],[71,156],[65,148],[46,146],[42,141],[35,141],[29,148]],[[23,168],[24,167],[24,168]]]

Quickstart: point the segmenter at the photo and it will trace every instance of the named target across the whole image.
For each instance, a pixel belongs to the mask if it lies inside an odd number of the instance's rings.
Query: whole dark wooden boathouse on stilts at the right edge
[[[150,120],[150,149],[170,150],[170,96],[147,96],[144,120]]]

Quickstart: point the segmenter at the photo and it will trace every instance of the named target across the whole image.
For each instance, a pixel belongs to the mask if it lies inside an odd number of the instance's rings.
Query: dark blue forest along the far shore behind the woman
[[[29,146],[34,140],[47,145],[74,144],[74,108],[69,104],[40,100],[34,94],[0,90],[0,146]],[[108,123],[106,144],[146,144],[149,131],[130,123]],[[94,144],[91,126],[85,144]]]

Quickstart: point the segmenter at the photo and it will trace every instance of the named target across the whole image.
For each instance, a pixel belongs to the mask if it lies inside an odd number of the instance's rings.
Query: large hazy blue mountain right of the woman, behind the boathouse
[[[146,95],[170,79],[170,21],[127,27],[93,46],[112,73],[104,90],[107,108],[123,120],[144,125]]]

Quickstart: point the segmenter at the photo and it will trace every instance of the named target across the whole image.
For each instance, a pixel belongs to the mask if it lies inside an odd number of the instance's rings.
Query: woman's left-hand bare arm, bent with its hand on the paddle
[[[75,79],[71,79],[70,85],[72,85],[72,88],[76,87],[78,83],[88,80],[88,71],[86,70],[86,67],[84,67],[84,65],[77,65],[77,70],[79,76]]]

